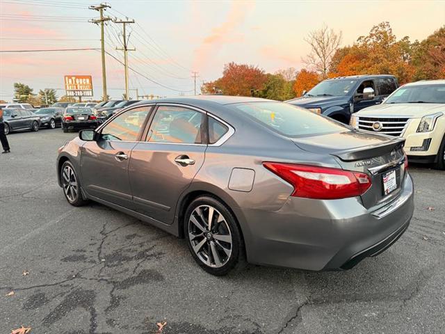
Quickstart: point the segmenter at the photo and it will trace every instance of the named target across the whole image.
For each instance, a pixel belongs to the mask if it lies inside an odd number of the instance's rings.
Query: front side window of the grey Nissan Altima
[[[109,122],[101,132],[104,141],[137,141],[151,106],[131,109]]]

